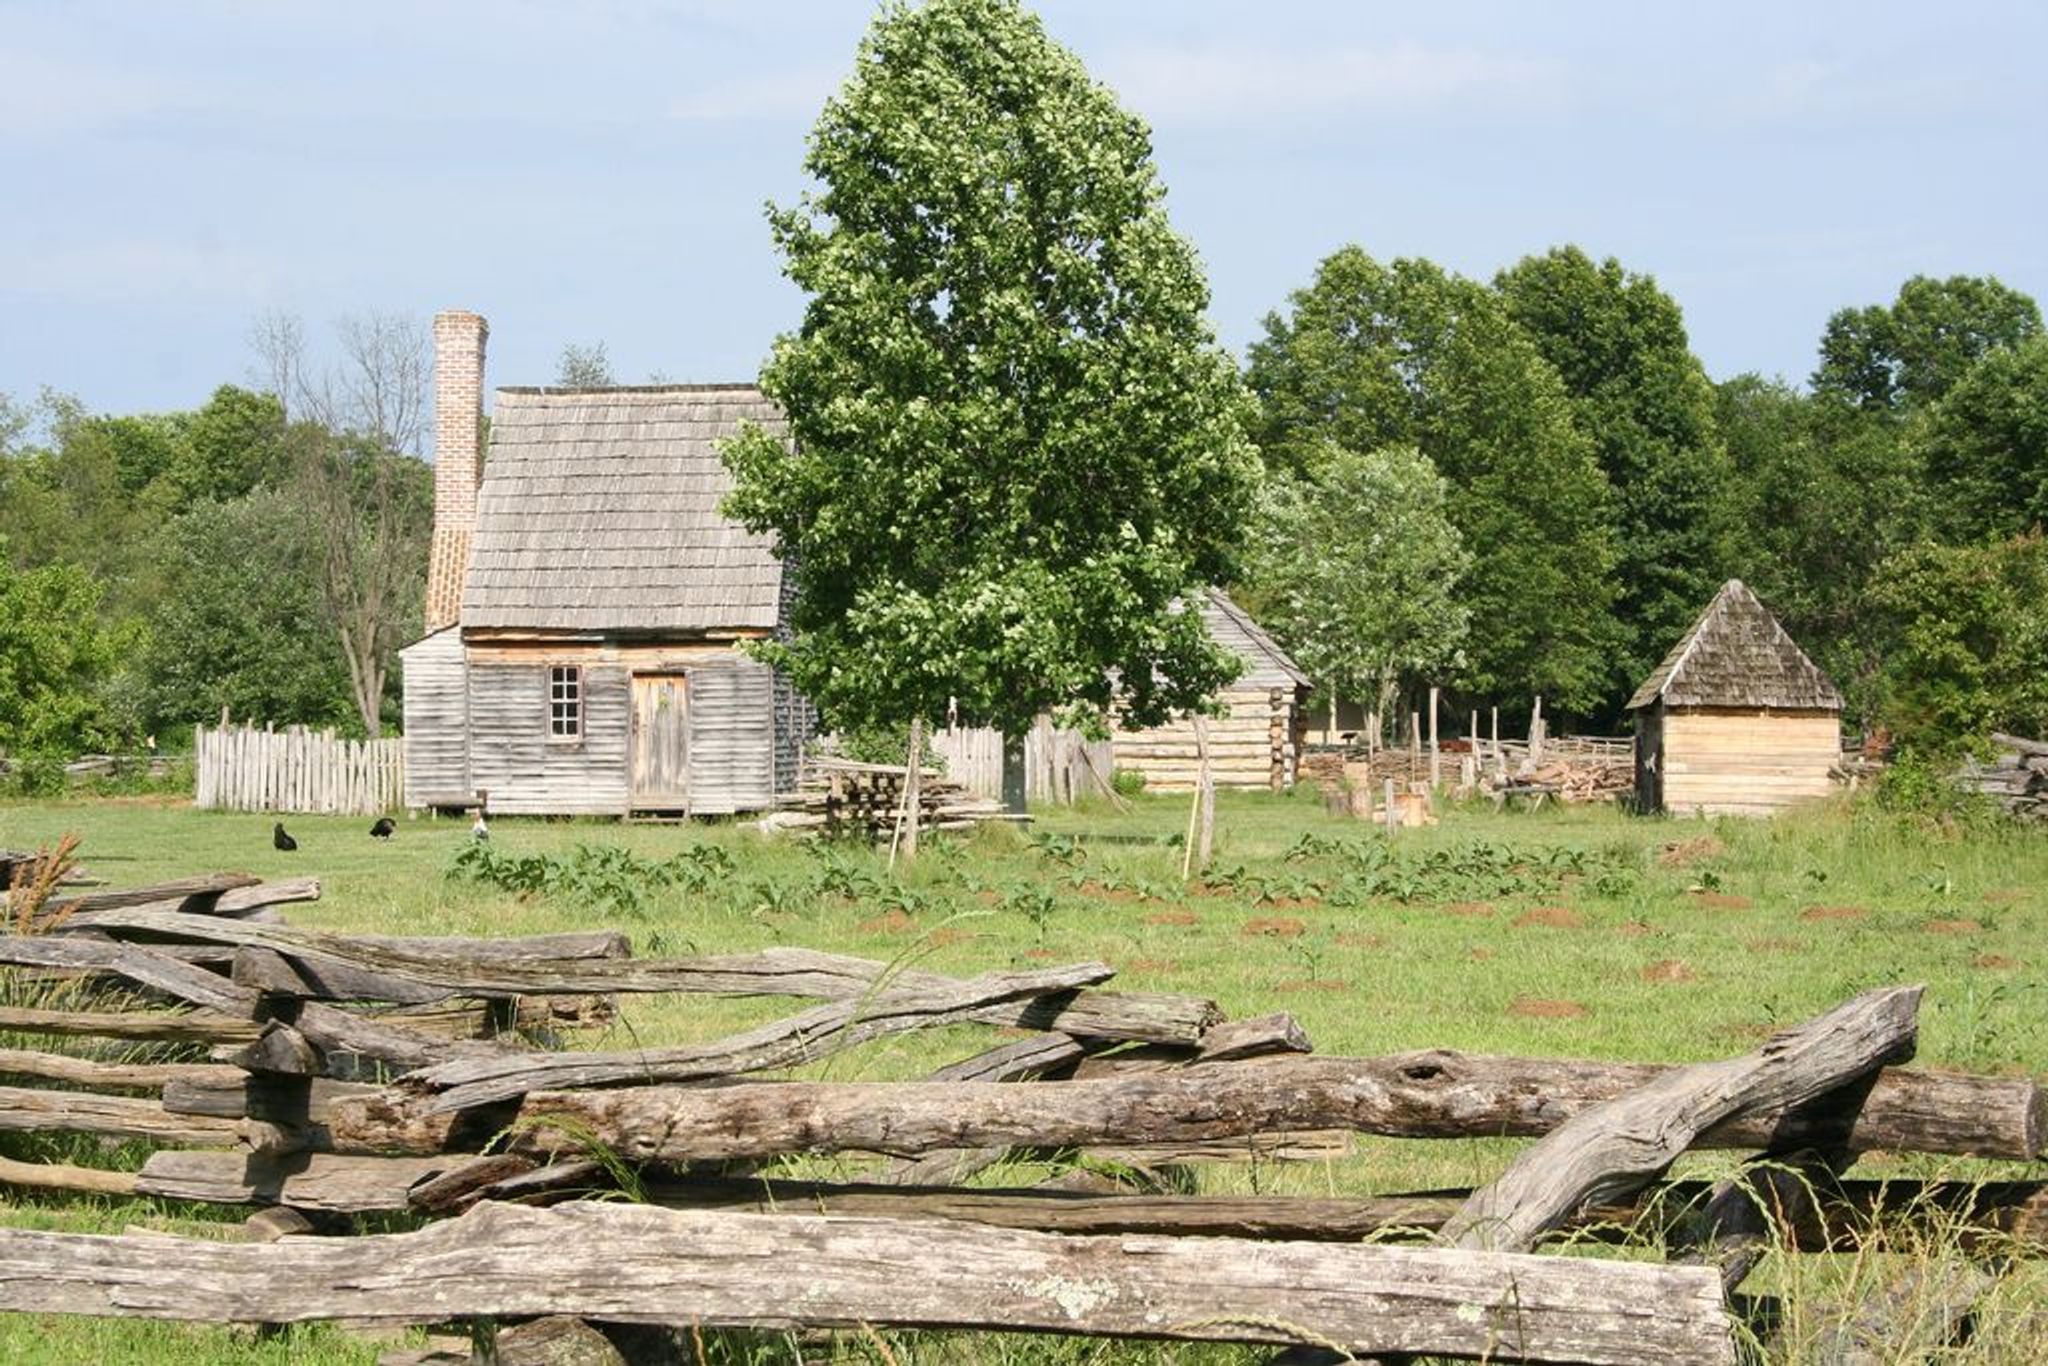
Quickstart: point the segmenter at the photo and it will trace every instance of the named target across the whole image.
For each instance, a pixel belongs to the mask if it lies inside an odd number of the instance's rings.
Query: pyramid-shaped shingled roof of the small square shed
[[[1729,580],[1692,631],[1642,680],[1628,709],[1778,707],[1841,711],[1841,692],[1743,580]]]

